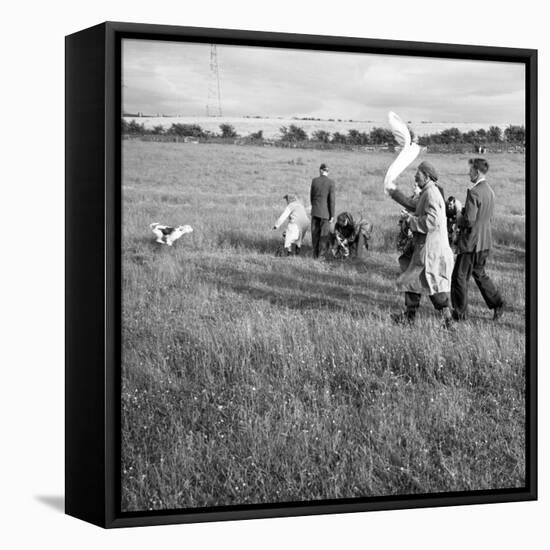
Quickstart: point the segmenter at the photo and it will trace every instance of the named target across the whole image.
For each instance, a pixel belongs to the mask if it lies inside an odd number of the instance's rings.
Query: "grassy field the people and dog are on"
[[[399,328],[391,153],[124,142],[122,509],[524,485],[525,159],[489,155],[509,309]],[[464,199],[467,158],[429,155]],[[271,230],[321,162],[337,211],[374,223],[365,262],[274,256]],[[402,176],[412,182],[413,168]],[[151,222],[190,224],[174,247]]]

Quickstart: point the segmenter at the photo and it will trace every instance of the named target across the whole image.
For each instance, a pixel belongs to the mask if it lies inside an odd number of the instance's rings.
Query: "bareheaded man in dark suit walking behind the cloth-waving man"
[[[493,245],[491,219],[495,209],[495,194],[485,179],[489,164],[485,159],[470,159],[471,187],[459,220],[458,256],[453,269],[451,299],[453,317],[460,321],[467,317],[468,282],[473,275],[485,303],[493,310],[496,321],[502,316],[504,301],[497,287],[487,275],[485,264]]]

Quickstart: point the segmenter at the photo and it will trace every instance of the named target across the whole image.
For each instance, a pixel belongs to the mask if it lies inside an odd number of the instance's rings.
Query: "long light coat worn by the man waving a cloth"
[[[434,182],[422,189],[410,227],[414,250],[397,279],[397,289],[430,296],[450,292],[454,256],[447,236],[445,201]]]

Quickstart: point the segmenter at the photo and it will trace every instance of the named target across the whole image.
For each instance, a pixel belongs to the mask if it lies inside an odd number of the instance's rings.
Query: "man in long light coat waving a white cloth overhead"
[[[451,322],[449,292],[454,257],[447,237],[445,201],[436,185],[437,179],[437,172],[429,162],[420,163],[415,174],[420,195],[414,214],[409,216],[412,254],[400,258],[403,273],[397,279],[397,288],[405,292],[406,311],[395,315],[395,321],[414,321],[425,294],[435,309],[441,311],[445,323]],[[392,197],[394,194],[391,192]]]

